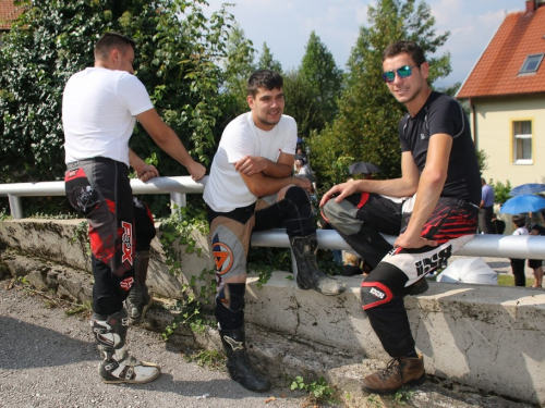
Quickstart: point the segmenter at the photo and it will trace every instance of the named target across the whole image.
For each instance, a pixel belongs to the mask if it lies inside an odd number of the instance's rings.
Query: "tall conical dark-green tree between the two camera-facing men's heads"
[[[311,33],[305,49],[300,71],[318,98],[323,121],[329,122],[337,114],[337,98],[341,94],[342,71],[337,66],[332,53],[316,33]]]

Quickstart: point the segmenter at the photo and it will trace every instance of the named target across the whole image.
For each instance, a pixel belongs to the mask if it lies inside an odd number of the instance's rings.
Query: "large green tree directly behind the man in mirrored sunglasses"
[[[352,49],[347,88],[339,99],[339,114],[330,126],[311,140],[316,153],[314,169],[326,184],[342,182],[347,164],[371,161],[380,176],[401,173],[398,123],[405,108],[389,94],[382,79],[382,53],[391,42],[413,40],[426,52],[429,82],[450,73],[450,54],[429,58],[445,44],[449,33],[436,35],[429,7],[415,0],[379,0],[368,8],[370,26],[360,28]],[[331,165],[334,163],[334,165]]]

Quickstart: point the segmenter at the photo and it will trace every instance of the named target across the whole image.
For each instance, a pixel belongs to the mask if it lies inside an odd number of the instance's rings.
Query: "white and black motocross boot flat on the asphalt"
[[[102,382],[145,384],[159,376],[161,371],[158,364],[140,361],[129,355],[125,345],[129,317],[125,309],[110,316],[93,313],[90,327],[102,358],[98,366]]]

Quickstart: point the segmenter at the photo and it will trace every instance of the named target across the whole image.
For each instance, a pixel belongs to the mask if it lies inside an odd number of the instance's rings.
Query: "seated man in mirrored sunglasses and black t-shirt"
[[[422,48],[388,46],[383,70],[391,95],[409,111],[399,125],[401,177],[339,184],[320,207],[372,269],[362,282],[362,308],[392,359],[367,375],[363,388],[392,394],[425,380],[403,298],[425,292],[425,275],[474,236],[481,183],[469,121],[456,99],[429,87]],[[393,247],[380,233],[398,236]]]

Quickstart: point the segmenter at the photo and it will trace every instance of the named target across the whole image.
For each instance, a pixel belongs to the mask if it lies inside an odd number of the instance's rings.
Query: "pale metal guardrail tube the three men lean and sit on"
[[[185,207],[186,194],[203,194],[208,176],[198,183],[190,176],[154,177],[149,182],[131,180],[134,194],[170,194],[171,203]],[[15,183],[0,185],[0,197],[9,197],[11,214],[23,218],[21,197],[64,196],[64,182]],[[174,207],[174,206],[172,206]],[[174,209],[172,211],[175,211]],[[334,230],[318,230],[318,247],[323,249],[350,249],[350,246]],[[393,244],[396,237],[385,238]],[[275,228],[252,235],[252,246],[289,248],[286,231]],[[457,255],[492,258],[545,259],[545,236],[475,235]]]

